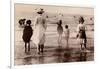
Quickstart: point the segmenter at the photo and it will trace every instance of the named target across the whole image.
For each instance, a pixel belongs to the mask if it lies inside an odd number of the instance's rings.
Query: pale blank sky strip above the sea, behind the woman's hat
[[[81,14],[94,15],[93,8],[86,7],[68,7],[68,6],[47,6],[34,4],[15,4],[15,12],[18,13],[32,13],[37,12],[39,8],[43,8],[45,12],[49,13],[63,13],[63,14]]]

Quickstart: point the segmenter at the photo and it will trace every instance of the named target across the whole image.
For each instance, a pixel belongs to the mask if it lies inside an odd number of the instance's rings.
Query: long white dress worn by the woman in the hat
[[[38,44],[44,44],[45,31],[46,31],[45,19],[42,16],[37,16],[34,22],[34,32],[32,36],[32,40],[37,46]]]

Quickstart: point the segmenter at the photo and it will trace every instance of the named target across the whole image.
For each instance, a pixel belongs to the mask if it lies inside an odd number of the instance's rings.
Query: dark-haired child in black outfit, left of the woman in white
[[[24,27],[24,30],[23,30],[22,38],[25,42],[25,53],[27,52],[27,44],[28,44],[28,51],[30,51],[30,39],[33,34],[33,30],[30,24],[31,24],[31,20],[27,20],[26,26]]]

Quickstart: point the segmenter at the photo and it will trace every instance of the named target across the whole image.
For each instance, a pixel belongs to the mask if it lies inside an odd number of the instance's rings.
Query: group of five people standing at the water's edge
[[[42,16],[44,13],[43,9],[40,9],[40,11],[37,12],[38,16],[36,17],[34,21],[34,27],[31,27],[31,20],[27,20],[26,24],[24,26],[23,30],[23,41],[25,42],[25,53],[30,51],[30,41],[32,40],[37,47],[37,53],[41,54],[43,53],[44,50],[44,43],[45,43],[45,32],[47,29],[47,23],[46,19]],[[25,21],[25,19],[23,19]],[[21,23],[21,22],[20,22]],[[23,24],[23,23],[21,23]],[[65,34],[65,39],[66,39],[66,45],[68,46],[68,40],[70,36],[70,30],[68,28],[68,25],[65,25],[65,31],[63,31],[62,27],[62,20],[60,19],[57,23],[57,32],[59,34],[58,37],[58,44],[61,46],[61,41],[62,41],[62,34],[64,32]],[[80,42],[81,49],[86,49],[86,43],[87,43],[87,38],[86,38],[86,29],[84,25],[84,18],[80,17],[79,18],[79,24],[77,26],[77,35],[76,38],[78,38]],[[84,48],[83,48],[84,46]]]

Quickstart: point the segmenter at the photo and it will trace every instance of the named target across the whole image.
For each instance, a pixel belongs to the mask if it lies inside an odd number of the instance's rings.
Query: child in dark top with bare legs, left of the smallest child
[[[58,25],[57,32],[59,34],[59,37],[58,37],[58,45],[61,46],[62,34],[63,34],[62,20],[59,20],[59,22],[57,23],[57,25]]]

